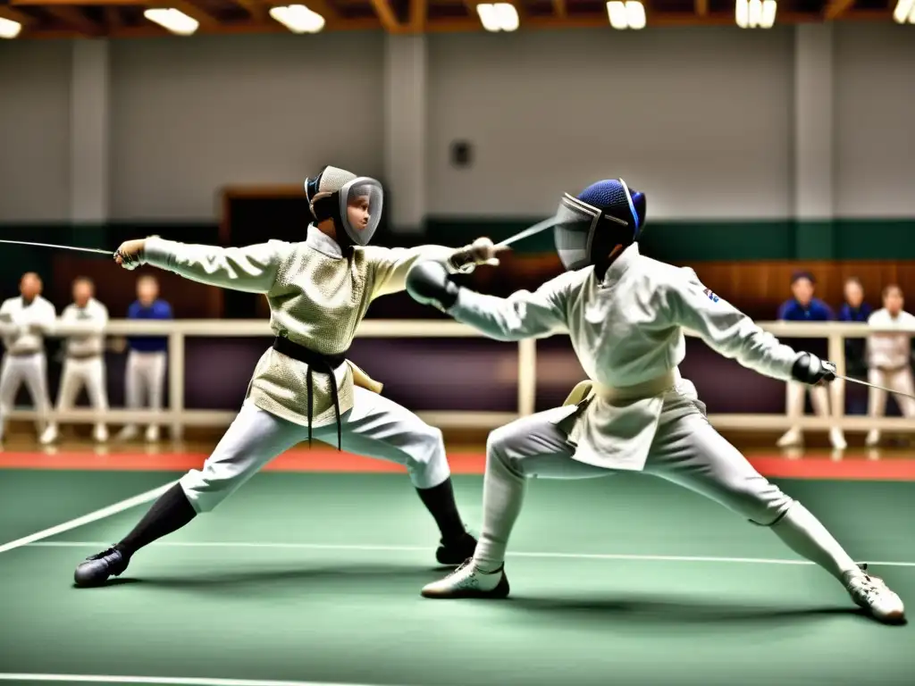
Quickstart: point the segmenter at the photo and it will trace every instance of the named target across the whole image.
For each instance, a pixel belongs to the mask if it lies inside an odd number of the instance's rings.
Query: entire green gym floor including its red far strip
[[[5,446],[0,681],[913,683],[910,626],[861,614],[770,531],[639,475],[533,482],[504,601],[420,597],[444,572],[409,480],[325,449],[281,457],[113,584],[74,588],[75,565],[210,446]],[[771,452],[748,455],[915,607],[915,460]],[[481,446],[450,460],[479,531]]]

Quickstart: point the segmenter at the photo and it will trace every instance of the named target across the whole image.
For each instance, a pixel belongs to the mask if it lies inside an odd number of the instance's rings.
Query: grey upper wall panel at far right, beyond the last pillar
[[[843,217],[915,216],[915,27],[836,27],[834,203]]]

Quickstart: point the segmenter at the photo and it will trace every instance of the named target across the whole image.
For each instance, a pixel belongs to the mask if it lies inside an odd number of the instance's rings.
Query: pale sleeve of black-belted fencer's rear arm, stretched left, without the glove
[[[276,274],[292,244],[267,241],[243,248],[221,248],[166,241],[152,236],[145,239],[143,262],[184,276],[201,284],[230,288],[246,293],[269,293]]]

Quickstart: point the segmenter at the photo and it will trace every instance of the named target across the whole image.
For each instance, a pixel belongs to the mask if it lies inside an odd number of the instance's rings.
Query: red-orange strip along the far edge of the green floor
[[[123,453],[96,455],[74,453],[0,453],[0,469],[73,469],[107,471],[176,471],[199,469],[204,453]],[[915,481],[915,459],[891,457],[884,460],[848,455],[842,460],[823,457],[749,456],[749,461],[767,477],[846,480]],[[448,462],[455,474],[482,474],[486,457],[480,453],[449,452]],[[369,457],[336,450],[293,450],[277,457],[268,471],[287,472],[404,472],[404,467]]]

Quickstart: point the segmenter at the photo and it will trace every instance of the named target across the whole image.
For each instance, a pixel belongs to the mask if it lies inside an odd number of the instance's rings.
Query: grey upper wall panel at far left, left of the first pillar
[[[0,40],[0,221],[69,212],[70,49]]]

